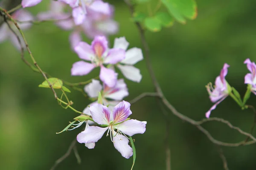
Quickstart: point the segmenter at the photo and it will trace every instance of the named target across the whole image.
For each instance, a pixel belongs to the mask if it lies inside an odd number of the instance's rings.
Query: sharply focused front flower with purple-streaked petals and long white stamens
[[[128,116],[131,115],[130,103],[120,102],[113,108],[113,112],[106,106],[94,104],[90,106],[90,113],[93,120],[102,127],[88,126],[77,135],[77,141],[85,144],[98,142],[108,130],[107,136],[110,135],[116,150],[126,159],[130,158],[133,155],[133,150],[128,144],[129,139],[126,135],[142,134],[146,130],[146,122],[135,119],[127,120]]]

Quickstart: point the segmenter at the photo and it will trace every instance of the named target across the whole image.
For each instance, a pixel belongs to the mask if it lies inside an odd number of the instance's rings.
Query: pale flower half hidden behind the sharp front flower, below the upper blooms
[[[99,92],[101,92],[103,105],[108,105],[110,111],[113,111],[114,106],[116,106],[124,97],[129,95],[127,86],[123,79],[117,80],[116,85],[113,88],[110,88],[105,84],[103,84],[102,87],[99,80],[93,79],[91,83],[84,86],[84,91],[90,98],[95,99],[98,97]],[[109,99],[111,99],[111,101]],[[89,106],[94,103],[96,102],[89,104]],[[88,106],[84,109],[83,113],[90,115]]]

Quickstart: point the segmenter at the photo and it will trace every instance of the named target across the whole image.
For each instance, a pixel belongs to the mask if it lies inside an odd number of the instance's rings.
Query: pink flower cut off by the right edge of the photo
[[[252,85],[251,92],[256,95],[256,64],[251,62],[250,59],[246,59],[244,64],[247,64],[247,68],[251,72],[245,75],[244,83]]]

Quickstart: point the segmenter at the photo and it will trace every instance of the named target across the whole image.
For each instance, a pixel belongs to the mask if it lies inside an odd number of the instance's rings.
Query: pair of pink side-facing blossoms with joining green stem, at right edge
[[[248,70],[250,73],[246,74],[244,77],[244,84],[248,84],[248,89],[250,92],[256,95],[256,64],[255,62],[251,62],[250,59],[246,59],[244,64],[247,65]],[[227,69],[230,67],[227,63],[224,64],[223,68],[221,69],[221,73],[215,79],[215,87],[212,87],[212,84],[209,83],[206,88],[209,93],[210,100],[215,103],[209,111],[205,114],[207,118],[209,118],[211,111],[216,108],[216,106],[222,102],[227,96],[231,96],[237,99],[236,96],[234,97],[232,93],[232,88],[230,87],[229,83],[225,79],[227,76]],[[246,95],[245,95],[246,96]],[[244,103],[241,103],[241,107],[243,107]]]

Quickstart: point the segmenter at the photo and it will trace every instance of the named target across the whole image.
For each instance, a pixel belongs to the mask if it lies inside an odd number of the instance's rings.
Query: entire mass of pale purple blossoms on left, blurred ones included
[[[27,8],[40,2],[41,0],[22,0],[21,5]],[[79,123],[72,124],[76,126],[73,129],[86,124],[84,131],[78,134],[77,141],[92,149],[108,131],[107,136],[110,136],[114,147],[128,159],[133,155],[133,149],[128,144],[131,140],[129,137],[144,133],[147,122],[128,118],[132,113],[130,103],[123,100],[129,94],[128,88],[124,79],[118,79],[115,69],[119,69],[126,79],[140,82],[142,75],[134,64],[143,59],[143,53],[140,48],[128,49],[129,42],[125,37],[116,38],[113,47],[110,47],[107,36],[118,31],[113,12],[113,6],[102,0],[52,0],[49,11],[40,12],[36,17],[25,9],[20,9],[12,14],[12,18],[22,30],[30,28],[35,20],[53,20],[63,30],[72,30],[71,48],[81,61],[73,64],[71,75],[84,76],[99,67],[101,80],[93,79],[84,87],[84,91],[94,102],[83,111],[87,118],[90,116],[90,120],[77,119]],[[82,34],[93,41],[90,44],[82,41]],[[0,27],[0,42],[9,38],[18,49],[20,45],[25,47],[23,41],[21,44],[18,42],[17,36],[20,33],[12,22]],[[102,103],[96,102],[99,94]]]

